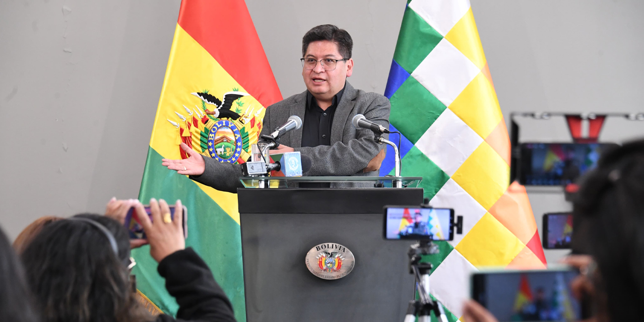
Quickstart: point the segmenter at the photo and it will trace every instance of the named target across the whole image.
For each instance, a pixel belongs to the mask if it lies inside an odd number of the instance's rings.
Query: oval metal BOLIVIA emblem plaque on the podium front
[[[311,274],[325,280],[343,278],[354,269],[354,254],[340,244],[319,244],[307,253],[306,264]]]

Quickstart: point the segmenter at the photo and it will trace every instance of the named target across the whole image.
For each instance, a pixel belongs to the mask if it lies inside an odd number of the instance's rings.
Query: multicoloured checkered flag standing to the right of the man
[[[408,1],[384,94],[402,175],[464,217],[462,235],[430,256],[430,292],[455,321],[475,267],[545,267],[526,190],[509,186],[506,124],[468,0]],[[387,152],[381,175],[393,174]]]

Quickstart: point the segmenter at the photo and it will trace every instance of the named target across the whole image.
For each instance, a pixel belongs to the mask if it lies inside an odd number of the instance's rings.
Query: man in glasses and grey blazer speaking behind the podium
[[[281,144],[273,152],[299,151],[308,156],[312,165],[304,175],[374,176],[384,159],[384,147],[375,143],[374,133],[352,125],[352,118],[363,114],[367,120],[388,129],[390,111],[386,97],[354,89],[346,81],[353,73],[352,48],[349,33],[337,26],[323,24],[307,31],[300,59],[307,90],[267,107],[261,134],[270,134],[291,115],[303,120],[300,129],[279,139]],[[204,157],[184,143],[181,147],[189,155],[187,159],[163,159],[162,164],[217,190],[234,193],[243,187],[239,165]],[[372,183],[300,184],[301,188],[330,186],[372,187]]]

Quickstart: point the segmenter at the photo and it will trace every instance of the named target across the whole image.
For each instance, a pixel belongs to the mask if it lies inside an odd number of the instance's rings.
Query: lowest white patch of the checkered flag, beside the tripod
[[[430,275],[430,293],[457,318],[463,315],[463,303],[469,298],[469,276],[477,269],[452,249],[450,255]]]

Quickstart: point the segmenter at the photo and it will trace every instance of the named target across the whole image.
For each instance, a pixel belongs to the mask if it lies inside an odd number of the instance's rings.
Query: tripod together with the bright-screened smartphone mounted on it
[[[423,262],[423,255],[439,253],[435,240],[453,240],[454,233],[463,231],[463,217],[454,220],[454,210],[451,208],[432,208],[429,199],[419,206],[385,206],[383,220],[383,237],[388,240],[418,240],[410,246],[409,271],[415,279],[415,293],[419,300],[409,303],[405,322],[431,321],[431,312],[442,322],[447,322],[444,308],[430,296],[430,272],[433,265]]]

